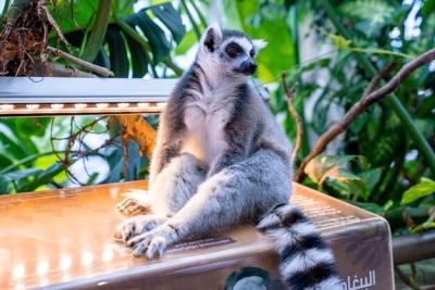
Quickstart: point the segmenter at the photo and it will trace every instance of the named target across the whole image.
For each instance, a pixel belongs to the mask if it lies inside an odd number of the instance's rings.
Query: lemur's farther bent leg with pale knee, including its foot
[[[115,239],[127,241],[133,236],[149,231],[178,212],[204,180],[206,172],[197,159],[188,153],[174,157],[156,177],[150,192],[153,215],[139,215],[121,224]]]

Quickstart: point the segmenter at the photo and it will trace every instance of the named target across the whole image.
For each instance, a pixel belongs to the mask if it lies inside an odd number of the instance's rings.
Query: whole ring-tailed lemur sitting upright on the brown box
[[[153,215],[128,219],[115,236],[151,260],[181,240],[260,220],[276,240],[290,289],[340,289],[331,250],[288,204],[290,144],[248,85],[264,46],[216,25],[206,30],[160,117],[149,180]]]

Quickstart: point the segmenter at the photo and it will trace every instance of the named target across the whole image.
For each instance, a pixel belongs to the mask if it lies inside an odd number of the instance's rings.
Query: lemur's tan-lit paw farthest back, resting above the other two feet
[[[127,198],[116,204],[116,210],[126,217],[149,214],[151,204],[148,192],[138,189],[129,191]]]

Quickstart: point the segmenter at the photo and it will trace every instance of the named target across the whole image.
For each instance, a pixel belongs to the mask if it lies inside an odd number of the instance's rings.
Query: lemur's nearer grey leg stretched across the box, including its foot
[[[207,179],[172,218],[127,244],[135,247],[134,255],[152,259],[183,239],[252,220],[274,204],[288,202],[289,176],[289,164],[273,151],[260,150]]]

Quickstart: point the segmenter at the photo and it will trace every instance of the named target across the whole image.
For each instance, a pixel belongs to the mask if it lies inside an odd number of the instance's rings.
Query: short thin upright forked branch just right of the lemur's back
[[[287,73],[285,72],[282,73],[281,79],[283,83],[284,92],[287,97],[287,108],[288,111],[290,112],[293,119],[295,119],[296,122],[296,142],[295,142],[295,148],[293,149],[291,152],[291,161],[295,162],[295,160],[298,156],[300,146],[302,144],[303,126],[302,126],[302,121],[300,119],[299,114],[296,111],[295,104],[293,103],[295,99],[296,87],[298,86],[298,84],[296,83],[290,89],[288,89],[286,78],[287,78]]]

